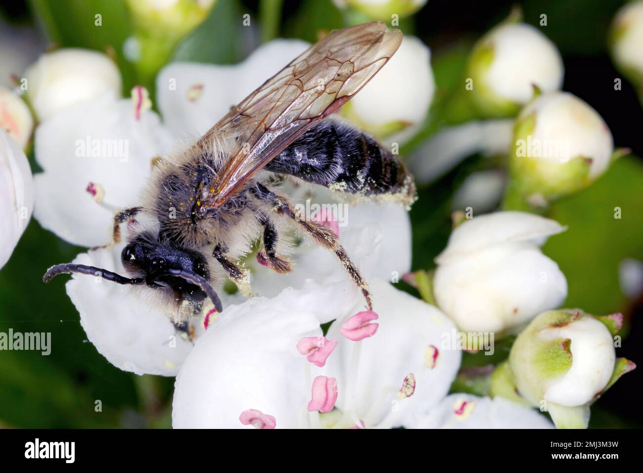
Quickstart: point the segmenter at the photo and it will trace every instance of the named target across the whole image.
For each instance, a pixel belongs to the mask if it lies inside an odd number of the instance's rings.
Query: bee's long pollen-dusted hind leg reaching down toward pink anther
[[[346,250],[340,245],[338,236],[330,228],[324,227],[316,221],[307,221],[303,216],[296,213],[284,196],[275,194],[275,192],[268,189],[261,183],[257,183],[257,185],[255,187],[251,187],[250,190],[260,201],[271,203],[276,212],[284,214],[296,221],[296,223],[319,245],[334,252],[342,266],[346,268],[350,278],[354,281],[355,285],[358,286],[359,290],[361,290],[361,293],[366,300],[368,310],[372,310],[373,304],[370,300],[370,290],[368,290],[367,282],[359,272],[358,268],[356,268],[355,264],[350,261],[350,257]]]

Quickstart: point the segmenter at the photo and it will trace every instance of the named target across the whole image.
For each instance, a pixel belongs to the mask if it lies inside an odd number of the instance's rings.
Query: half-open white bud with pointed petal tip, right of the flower
[[[433,293],[458,328],[502,332],[565,300],[567,283],[539,246],[565,228],[523,212],[467,219],[435,259]]]

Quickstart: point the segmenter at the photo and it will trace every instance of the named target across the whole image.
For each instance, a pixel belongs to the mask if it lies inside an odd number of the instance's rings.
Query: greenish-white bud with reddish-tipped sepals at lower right
[[[635,367],[616,359],[612,337],[621,324],[620,314],[594,317],[576,309],[538,315],[509,355],[518,393],[547,410],[559,428],[587,427],[590,404]]]

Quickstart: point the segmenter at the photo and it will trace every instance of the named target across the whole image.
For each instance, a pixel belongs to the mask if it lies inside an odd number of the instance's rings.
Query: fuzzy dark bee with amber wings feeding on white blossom
[[[274,178],[294,178],[345,196],[415,199],[412,176],[370,135],[331,116],[367,84],[397,51],[399,30],[383,23],[333,30],[233,107],[210,131],[181,153],[161,158],[142,205],[114,217],[120,225],[145,216],[152,225],[129,237],[121,259],[127,276],[83,264],[57,264],[43,277],[97,275],[118,284],[147,286],[177,308],[201,310],[217,270],[246,288],[240,259],[260,240],[262,258],[277,273],[291,271],[280,251],[276,221],[289,221],[334,252],[372,309],[368,284],[332,230],[300,215]]]

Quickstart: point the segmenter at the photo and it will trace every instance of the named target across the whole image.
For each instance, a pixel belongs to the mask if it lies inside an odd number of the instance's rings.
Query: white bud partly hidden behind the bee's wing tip
[[[404,35],[397,52],[341,114],[387,142],[404,142],[424,122],[433,93],[431,51],[416,37]]]

